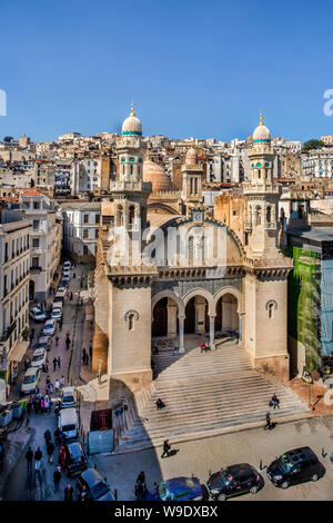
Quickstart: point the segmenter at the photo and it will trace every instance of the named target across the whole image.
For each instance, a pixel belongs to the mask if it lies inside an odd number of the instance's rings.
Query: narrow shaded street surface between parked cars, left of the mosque
[[[75,274],[75,278],[73,278]],[[68,289],[73,293],[72,300],[65,300],[63,304],[63,325],[62,329],[59,330],[59,325],[57,326],[57,332],[52,337],[51,349],[49,352],[49,375],[51,377],[51,383],[54,385],[56,379],[60,379],[61,376],[64,377],[64,385],[79,385],[82,382],[79,378],[80,367],[81,367],[81,354],[82,354],[82,335],[83,335],[83,323],[84,323],[84,307],[80,305],[81,300],[81,288],[79,277],[84,275],[87,279],[88,268],[87,266],[77,266],[71,269],[71,279],[69,282]],[[43,328],[43,324],[33,324],[36,328],[33,348],[38,344],[40,333]],[[69,351],[65,349],[65,333],[70,332],[70,339],[72,342]],[[59,346],[56,346],[56,335],[59,336]],[[88,349],[88,347],[87,347]],[[53,372],[53,358],[61,358],[60,368],[57,367]],[[39,387],[41,394],[46,393],[46,374],[42,374]],[[16,385],[14,394],[19,397],[19,388],[21,384],[22,376],[19,376],[18,383]],[[58,448],[54,451],[53,463],[48,463],[47,446],[44,442],[44,431],[50,430],[51,434],[57,428],[57,420],[54,415],[54,405],[57,402],[57,396],[53,392],[52,402],[53,407],[50,414],[36,414],[33,411],[30,416],[30,434],[31,442],[30,445],[33,452],[40,446],[43,458],[42,467],[40,474],[36,474],[34,471],[29,476],[27,475],[27,462],[26,462],[26,452],[23,451],[21,458],[18,460],[17,465],[9,478],[6,493],[3,495],[4,501],[48,501],[48,500],[62,500],[63,499],[63,489],[68,483],[71,483],[74,486],[75,480],[69,480],[64,473],[62,473],[62,480],[60,483],[59,492],[54,491],[53,486],[53,472],[57,467],[58,462]],[[24,421],[26,426],[26,421]],[[26,428],[21,428],[22,431]],[[26,430],[27,431],[27,430]],[[14,433],[10,435],[10,438],[14,438]]]

